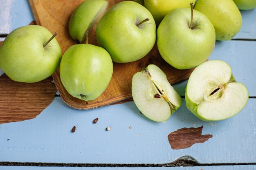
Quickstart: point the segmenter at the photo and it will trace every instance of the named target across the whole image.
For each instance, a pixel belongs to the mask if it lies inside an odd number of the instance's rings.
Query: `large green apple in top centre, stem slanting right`
[[[141,21],[149,21],[137,26]],[[151,13],[133,1],[111,7],[96,29],[99,46],[108,51],[117,63],[133,62],[144,57],[154,46],[156,26]]]

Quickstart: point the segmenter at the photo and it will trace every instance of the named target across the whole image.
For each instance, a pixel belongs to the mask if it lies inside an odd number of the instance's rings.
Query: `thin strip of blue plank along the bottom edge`
[[[99,168],[99,167],[31,167],[31,166],[0,166],[0,170],[255,170],[255,165],[236,166],[194,166],[194,167],[147,167],[147,168]]]

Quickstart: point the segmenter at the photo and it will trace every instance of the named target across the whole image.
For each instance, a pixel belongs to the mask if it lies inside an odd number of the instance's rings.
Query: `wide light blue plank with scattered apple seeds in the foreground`
[[[162,164],[189,155],[199,163],[256,162],[256,99],[249,99],[238,115],[217,122],[199,120],[182,102],[166,123],[157,123],[141,115],[134,102],[75,110],[56,97],[35,119],[0,125],[0,161]],[[213,137],[171,149],[170,132],[200,126],[202,134]]]

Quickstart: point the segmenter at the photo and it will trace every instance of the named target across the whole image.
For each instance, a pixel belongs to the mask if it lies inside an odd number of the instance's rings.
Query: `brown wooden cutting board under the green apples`
[[[78,43],[70,37],[68,22],[74,9],[83,1],[84,0],[29,0],[36,19],[36,24],[46,27],[52,33],[56,32],[58,34],[56,39],[61,46],[63,54],[70,46]],[[108,8],[121,1],[122,0],[108,0]],[[95,30],[96,25],[90,34],[89,44],[97,45]],[[67,105],[77,109],[92,109],[131,99],[132,76],[136,72],[141,71],[142,68],[148,66],[148,64],[159,66],[159,68],[166,73],[168,81],[171,84],[187,79],[193,71],[193,69],[178,70],[167,64],[160,56],[155,44],[150,53],[141,60],[125,64],[113,63],[114,71],[108,88],[97,99],[92,101],[83,101],[67,93],[61,83],[59,70],[53,74],[53,78],[61,98]]]

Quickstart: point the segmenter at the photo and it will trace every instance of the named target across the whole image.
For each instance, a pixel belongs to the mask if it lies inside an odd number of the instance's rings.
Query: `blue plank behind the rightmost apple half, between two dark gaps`
[[[256,41],[216,41],[209,60],[223,60],[232,69],[237,82],[245,84],[249,96],[256,96]],[[175,84],[176,91],[184,96],[187,81]]]

